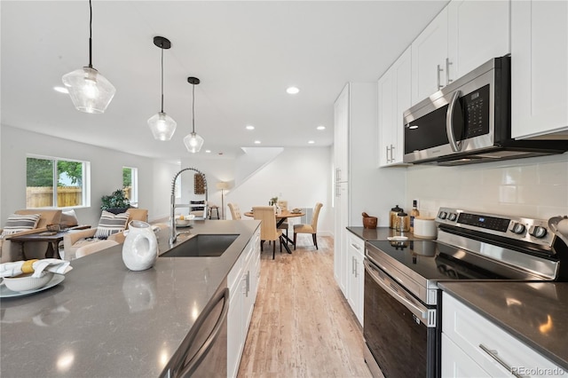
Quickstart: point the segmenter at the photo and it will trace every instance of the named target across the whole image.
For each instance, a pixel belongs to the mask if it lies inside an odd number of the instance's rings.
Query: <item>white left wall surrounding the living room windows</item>
[[[2,224],[13,211],[26,209],[27,154],[91,161],[91,207],[75,209],[82,224],[99,224],[100,197],[122,187],[123,166],[138,168],[138,207],[148,209],[148,218],[169,213],[171,171],[175,173],[175,165],[4,125],[0,133]]]

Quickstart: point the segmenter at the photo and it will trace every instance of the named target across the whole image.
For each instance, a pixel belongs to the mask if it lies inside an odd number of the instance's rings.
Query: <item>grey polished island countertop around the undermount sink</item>
[[[219,257],[158,257],[130,272],[120,245],[73,260],[56,287],[2,298],[2,375],[158,376],[259,224],[206,220],[185,229],[240,234]]]

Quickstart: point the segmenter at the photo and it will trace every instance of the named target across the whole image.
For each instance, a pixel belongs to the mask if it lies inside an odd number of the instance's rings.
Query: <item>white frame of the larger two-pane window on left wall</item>
[[[37,208],[28,208],[28,194],[26,194],[26,209],[83,209],[83,208],[90,208],[91,207],[91,161],[83,161],[78,159],[70,159],[70,158],[63,158],[57,156],[49,156],[49,155],[41,155],[41,154],[26,154],[26,177],[28,177],[28,158],[37,159],[37,160],[45,160],[45,161],[52,161],[53,162],[53,169],[52,169],[52,203],[53,206],[42,206]],[[74,206],[58,206],[57,196],[58,196],[58,161],[72,161],[72,162],[80,162],[83,167],[83,186],[82,186],[82,204],[81,205],[74,205]],[[26,179],[26,188],[28,188],[28,179]]]

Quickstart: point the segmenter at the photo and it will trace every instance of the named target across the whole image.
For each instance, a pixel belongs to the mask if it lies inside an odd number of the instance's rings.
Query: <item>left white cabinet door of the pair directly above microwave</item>
[[[446,86],[447,7],[412,43],[412,103]]]

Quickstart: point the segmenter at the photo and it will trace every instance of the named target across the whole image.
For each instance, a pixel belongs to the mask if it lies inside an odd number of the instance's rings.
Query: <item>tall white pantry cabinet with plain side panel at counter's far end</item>
[[[362,212],[378,217],[379,226],[388,225],[389,209],[405,201],[404,169],[377,169],[377,108],[376,83],[348,83],[335,101],[335,124],[347,125],[347,137],[335,134],[334,141],[334,153],[347,152],[347,175],[335,182],[334,197],[334,276],[345,297],[351,266],[346,227],[361,226]]]

